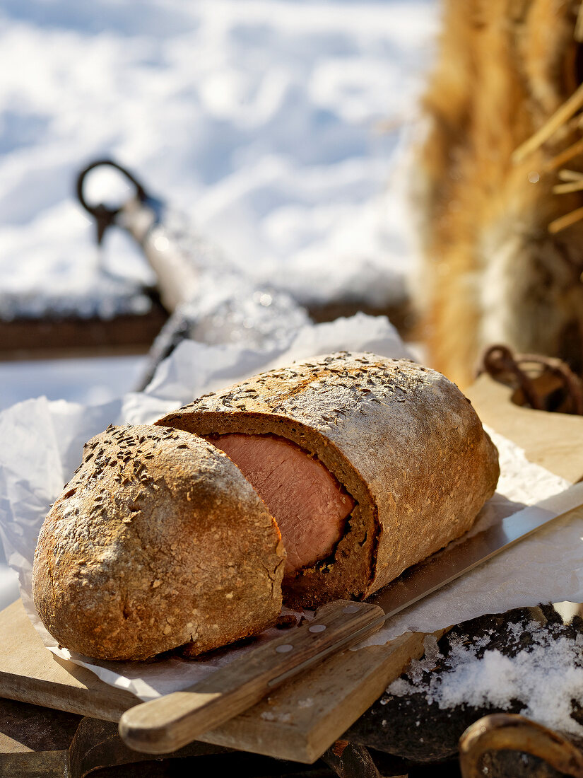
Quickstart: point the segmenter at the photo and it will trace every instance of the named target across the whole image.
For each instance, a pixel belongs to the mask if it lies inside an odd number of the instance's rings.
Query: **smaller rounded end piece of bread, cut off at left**
[[[277,525],[225,454],[178,430],[110,427],[44,521],[33,598],[81,654],[198,654],[275,622],[284,561]]]

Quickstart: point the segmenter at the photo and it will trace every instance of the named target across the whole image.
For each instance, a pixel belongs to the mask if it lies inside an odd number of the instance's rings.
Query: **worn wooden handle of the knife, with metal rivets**
[[[385,620],[378,605],[337,600],[323,605],[305,626],[250,651],[183,692],[127,710],[122,740],[136,751],[167,754],[260,702],[293,675],[359,643]]]

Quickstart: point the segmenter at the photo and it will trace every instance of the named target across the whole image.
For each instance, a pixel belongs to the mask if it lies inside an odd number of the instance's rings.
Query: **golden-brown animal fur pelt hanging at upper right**
[[[414,187],[421,212],[422,335],[460,385],[493,343],[583,367],[583,221],[553,234],[583,192],[554,194],[572,117],[522,162],[515,149],[583,80],[580,0],[445,0],[422,108]],[[583,170],[582,152],[565,164]]]

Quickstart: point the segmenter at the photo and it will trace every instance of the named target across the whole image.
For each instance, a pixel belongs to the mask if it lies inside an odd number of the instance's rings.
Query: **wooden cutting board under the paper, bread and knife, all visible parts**
[[[483,421],[515,440],[531,461],[571,482],[583,478],[583,417],[511,405],[510,390],[481,377],[466,394]],[[578,509],[580,511],[581,509]],[[23,605],[0,613],[0,696],[117,721],[139,701],[44,647]],[[367,710],[413,657],[424,635],[344,651],[274,691],[262,703],[199,738],[279,759],[314,762]]]

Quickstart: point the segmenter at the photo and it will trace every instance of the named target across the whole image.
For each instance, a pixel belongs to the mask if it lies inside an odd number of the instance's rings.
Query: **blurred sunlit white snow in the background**
[[[98,257],[72,194],[103,156],[257,279],[325,298],[352,268],[400,299],[403,159],[437,22],[435,0],[2,0],[0,315],[103,313],[103,267],[128,296],[152,282],[119,230]],[[0,408],[103,402],[142,363],[0,363]]]

